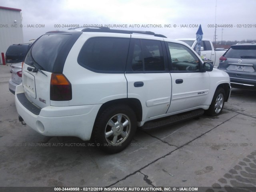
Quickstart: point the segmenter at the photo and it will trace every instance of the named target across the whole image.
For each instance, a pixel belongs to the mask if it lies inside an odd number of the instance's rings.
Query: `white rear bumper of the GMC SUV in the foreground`
[[[23,93],[22,84],[16,87],[15,104],[24,122],[45,136],[75,136],[90,140],[100,104],[85,106],[47,106],[38,115],[22,105],[17,94]]]

